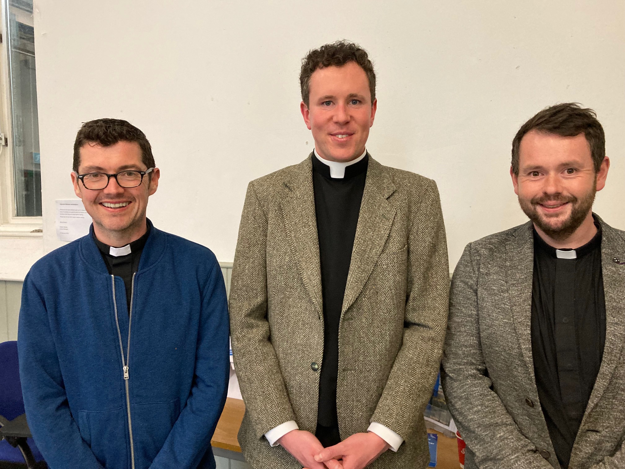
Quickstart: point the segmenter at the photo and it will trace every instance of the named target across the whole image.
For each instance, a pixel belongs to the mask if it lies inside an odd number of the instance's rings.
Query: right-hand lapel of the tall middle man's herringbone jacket
[[[394,191],[389,174],[369,156],[341,315],[360,295],[386,245],[395,216],[395,208],[387,199]]]

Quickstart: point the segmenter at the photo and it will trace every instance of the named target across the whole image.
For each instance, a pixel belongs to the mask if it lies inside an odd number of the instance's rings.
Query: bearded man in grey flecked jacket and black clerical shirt
[[[467,469],[625,467],[625,232],[591,211],[601,124],[546,108],[512,143],[526,224],[469,243],[443,357]]]

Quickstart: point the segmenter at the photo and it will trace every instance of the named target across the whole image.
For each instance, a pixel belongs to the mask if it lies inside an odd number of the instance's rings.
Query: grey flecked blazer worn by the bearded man
[[[569,469],[625,468],[625,232],[599,223],[606,345]],[[560,467],[534,378],[533,272],[531,222],[470,243],[454,272],[442,383],[467,469]]]

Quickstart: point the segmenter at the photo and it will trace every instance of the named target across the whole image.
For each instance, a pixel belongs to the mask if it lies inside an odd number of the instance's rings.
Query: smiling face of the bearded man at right
[[[594,171],[584,134],[562,137],[532,130],[521,140],[514,192],[536,229],[553,240],[571,237],[582,224],[592,227],[592,202],[606,184],[609,159]],[[579,246],[575,246],[579,247]]]

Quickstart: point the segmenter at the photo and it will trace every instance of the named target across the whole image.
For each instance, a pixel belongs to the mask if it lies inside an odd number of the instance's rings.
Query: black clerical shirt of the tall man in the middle
[[[312,156],[312,185],[319,236],[324,345],[319,376],[317,422],[336,426],[336,381],[339,367],[339,321],[360,213],[369,155],[345,168],[342,179]]]

